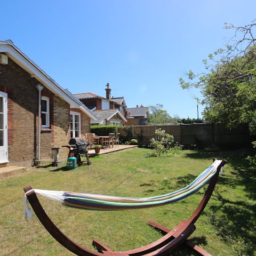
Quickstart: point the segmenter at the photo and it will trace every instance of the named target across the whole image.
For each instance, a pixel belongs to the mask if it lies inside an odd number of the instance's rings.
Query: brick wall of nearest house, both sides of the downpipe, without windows
[[[0,90],[7,93],[8,165],[27,166],[37,153],[39,83],[9,58],[0,65]],[[50,128],[41,132],[41,159],[51,160],[51,147],[69,141],[69,104],[44,87],[42,95],[50,99]],[[62,148],[63,158],[68,149]]]

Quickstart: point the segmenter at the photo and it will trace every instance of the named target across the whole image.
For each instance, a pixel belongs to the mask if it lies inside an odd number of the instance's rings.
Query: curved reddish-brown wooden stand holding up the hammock
[[[215,161],[215,158],[213,158]],[[42,222],[43,226],[47,229],[47,231],[63,246],[65,246],[69,251],[79,255],[79,256],[157,256],[157,255],[167,255],[174,249],[176,249],[181,244],[186,244],[191,247],[194,251],[196,251],[199,255],[211,256],[211,254],[207,253],[198,245],[195,245],[191,241],[188,240],[188,237],[195,231],[195,222],[202,214],[205,206],[207,205],[214,187],[217,183],[217,179],[220,173],[220,169],[222,166],[226,164],[226,160],[222,160],[221,164],[217,167],[217,172],[213,175],[209,186],[197,206],[194,213],[188,220],[181,221],[178,226],[174,229],[170,230],[163,226],[160,226],[154,222],[148,222],[148,225],[153,226],[154,228],[161,231],[164,236],[159,238],[157,241],[150,243],[146,246],[142,246],[138,249],[127,250],[127,251],[112,251],[105,244],[94,240],[93,245],[97,248],[98,252],[94,252],[90,249],[87,249],[77,243],[71,241],[65,234],[63,234],[51,221],[51,219],[45,213],[42,205],[39,203],[38,198],[31,186],[24,188],[25,193],[27,193],[27,198],[30,205],[33,207],[35,214],[38,219]]]

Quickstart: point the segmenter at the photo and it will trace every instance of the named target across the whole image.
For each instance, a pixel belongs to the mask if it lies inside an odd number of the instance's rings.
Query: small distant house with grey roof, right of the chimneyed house
[[[135,108],[127,108],[127,123],[125,125],[146,125],[150,122],[149,108],[142,105]]]

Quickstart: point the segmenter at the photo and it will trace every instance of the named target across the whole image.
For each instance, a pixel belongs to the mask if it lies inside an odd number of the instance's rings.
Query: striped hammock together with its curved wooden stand
[[[25,198],[24,203],[27,201],[33,207],[38,219],[42,222],[43,226],[49,231],[49,233],[69,251],[76,255],[85,256],[160,256],[167,255],[181,244],[186,244],[191,249],[196,251],[199,255],[211,256],[211,254],[204,251],[201,247],[193,244],[188,240],[188,237],[195,231],[195,222],[202,214],[205,206],[207,205],[214,187],[217,183],[221,167],[226,164],[226,160],[217,160],[213,158],[213,164],[203,171],[198,177],[191,182],[185,188],[171,192],[169,194],[143,197],[143,198],[129,198],[129,197],[116,197],[106,195],[95,194],[81,194],[67,191],[51,191],[33,189],[31,186],[24,188]],[[82,209],[90,210],[125,210],[125,209],[141,209],[147,207],[161,206],[169,203],[176,202],[180,199],[188,197],[204,187],[206,183],[209,183],[207,190],[198,204],[196,210],[188,220],[182,220],[174,229],[168,229],[154,222],[148,222],[148,225],[161,230],[163,237],[157,239],[157,241],[150,243],[146,246],[139,247],[138,249],[127,251],[113,251],[109,247],[97,240],[93,241],[93,245],[97,248],[98,252],[87,249],[69,239],[63,234],[51,221],[51,219],[45,213],[42,205],[39,203],[36,194],[46,196],[55,201],[59,201],[63,205],[80,207]],[[26,207],[26,217],[31,216],[31,211]]]

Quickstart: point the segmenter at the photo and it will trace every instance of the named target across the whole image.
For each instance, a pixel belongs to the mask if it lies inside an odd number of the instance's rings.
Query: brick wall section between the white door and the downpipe
[[[7,93],[9,165],[33,161],[36,148],[38,82],[9,58],[0,65],[0,87]]]

